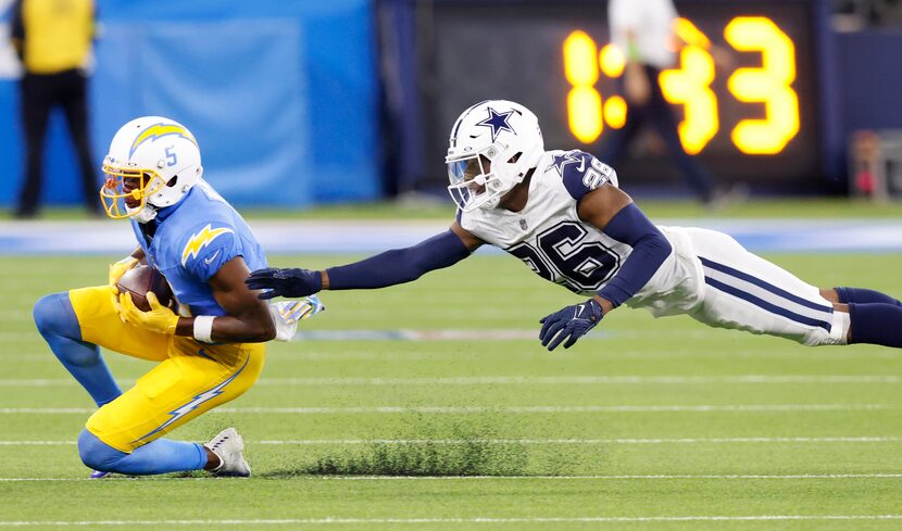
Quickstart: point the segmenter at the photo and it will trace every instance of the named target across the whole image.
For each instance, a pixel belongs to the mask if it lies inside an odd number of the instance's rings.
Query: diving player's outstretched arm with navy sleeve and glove
[[[306,296],[321,290],[385,288],[410,282],[428,271],[452,266],[469,256],[481,243],[455,223],[451,229],[413,246],[393,249],[322,271],[260,269],[251,274],[247,283],[253,290],[268,290],[260,294],[261,299]]]

